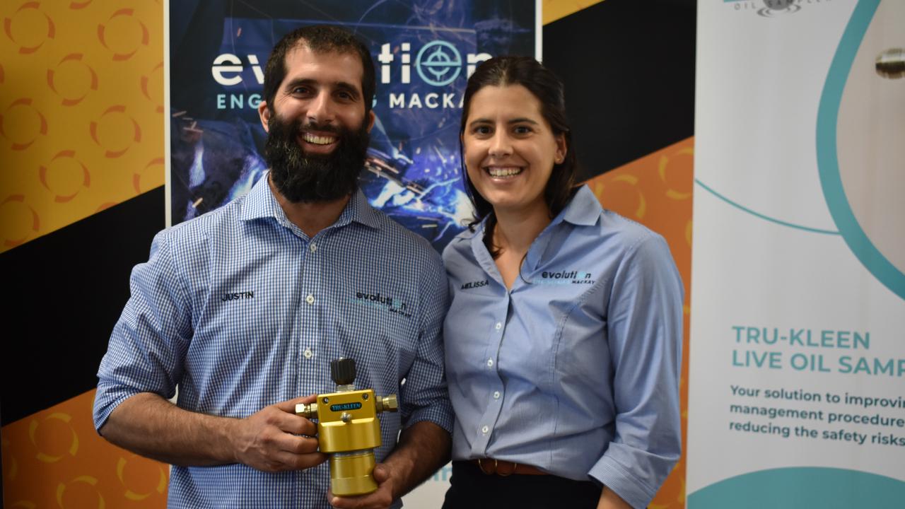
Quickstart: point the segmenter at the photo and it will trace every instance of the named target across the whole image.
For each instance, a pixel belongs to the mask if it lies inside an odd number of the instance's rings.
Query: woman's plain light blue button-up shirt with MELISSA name
[[[483,225],[443,252],[452,459],[492,457],[650,503],[681,453],[682,283],[660,235],[587,187],[507,291]]]

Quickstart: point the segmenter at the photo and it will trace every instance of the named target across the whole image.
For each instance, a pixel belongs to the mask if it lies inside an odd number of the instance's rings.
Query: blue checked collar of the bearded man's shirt
[[[249,191],[248,196],[245,197],[239,218],[243,221],[251,221],[262,217],[273,217],[282,226],[288,227],[290,221],[286,217],[286,213],[283,212],[277,198],[273,196],[271,187],[267,183],[269,176],[270,172],[265,173],[262,178],[259,178],[254,184],[252,190]],[[380,227],[380,221],[378,220],[376,210],[367,203],[367,197],[361,192],[361,189],[357,189],[352,194],[352,197],[348,200],[348,204],[343,208],[342,213],[339,214],[339,217],[332,226],[346,226],[352,222],[360,223],[371,228]]]

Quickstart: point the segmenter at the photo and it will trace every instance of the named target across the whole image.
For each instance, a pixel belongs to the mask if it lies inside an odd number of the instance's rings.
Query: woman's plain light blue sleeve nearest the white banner
[[[681,455],[683,286],[660,235],[633,245],[614,274],[607,334],[615,435],[588,473],[645,507]]]

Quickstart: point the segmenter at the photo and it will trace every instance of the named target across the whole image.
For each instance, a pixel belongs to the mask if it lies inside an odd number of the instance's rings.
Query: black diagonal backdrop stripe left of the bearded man
[[[97,386],[132,266],[164,225],[157,187],[0,255],[4,425]]]

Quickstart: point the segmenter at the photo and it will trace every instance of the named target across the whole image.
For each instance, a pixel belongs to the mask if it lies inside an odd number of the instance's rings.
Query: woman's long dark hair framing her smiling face
[[[500,255],[500,249],[493,245],[493,227],[496,226],[496,216],[493,214],[493,206],[472,184],[468,178],[468,170],[465,168],[464,148],[462,137],[465,134],[465,123],[468,121],[468,113],[472,106],[472,97],[484,87],[504,87],[507,85],[521,85],[528,89],[540,102],[540,113],[550,124],[553,136],[562,135],[566,139],[566,158],[563,162],[553,166],[553,172],[544,188],[544,201],[550,210],[551,216],[557,216],[563,208],[566,208],[570,199],[575,194],[575,179],[578,163],[575,155],[575,147],[572,145],[572,130],[566,120],[566,97],[563,83],[556,74],[550,72],[537,60],[527,56],[500,56],[491,58],[481,63],[468,79],[465,87],[465,95],[462,98],[462,123],[459,126],[459,154],[462,159],[462,178],[465,179],[465,189],[474,204],[474,220],[469,224],[469,229],[474,231],[484,217],[487,224],[484,226],[484,245],[494,258]]]

